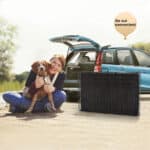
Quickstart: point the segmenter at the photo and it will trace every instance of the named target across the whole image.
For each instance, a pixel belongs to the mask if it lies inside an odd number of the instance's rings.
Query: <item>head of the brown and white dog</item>
[[[32,71],[39,76],[47,76],[49,74],[49,69],[51,68],[51,63],[48,61],[36,61],[32,64]]]

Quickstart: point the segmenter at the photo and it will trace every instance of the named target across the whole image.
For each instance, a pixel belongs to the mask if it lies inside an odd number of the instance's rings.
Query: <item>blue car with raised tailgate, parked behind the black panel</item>
[[[68,99],[79,98],[81,72],[139,73],[140,93],[150,93],[150,54],[130,47],[100,46],[80,35],[54,37],[51,42],[68,46],[64,90]]]

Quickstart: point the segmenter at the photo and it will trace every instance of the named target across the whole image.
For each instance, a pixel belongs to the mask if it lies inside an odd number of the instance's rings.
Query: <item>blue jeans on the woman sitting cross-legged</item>
[[[30,104],[31,100],[22,96],[19,93],[7,92],[3,94],[3,99],[9,103],[11,106],[15,107],[15,112],[25,112]],[[64,91],[56,90],[53,92],[54,105],[59,108],[62,103],[66,100],[66,93]],[[45,96],[40,101],[37,101],[33,112],[44,112],[45,105],[48,103],[48,97]]]

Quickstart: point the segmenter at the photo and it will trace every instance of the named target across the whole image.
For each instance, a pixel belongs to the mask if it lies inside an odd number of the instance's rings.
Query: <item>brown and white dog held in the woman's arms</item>
[[[29,87],[28,92],[25,94],[25,97],[30,98],[32,100],[30,107],[26,111],[26,113],[31,113],[35,103],[37,100],[40,100],[42,97],[48,95],[48,100],[51,104],[52,111],[56,111],[53,102],[52,91],[46,92],[44,89],[45,85],[52,85],[50,81],[50,74],[48,73],[49,68],[51,67],[51,63],[47,61],[36,61],[32,64],[32,71],[36,73],[36,78],[42,78],[44,81],[44,85],[40,88],[36,88],[35,81]]]

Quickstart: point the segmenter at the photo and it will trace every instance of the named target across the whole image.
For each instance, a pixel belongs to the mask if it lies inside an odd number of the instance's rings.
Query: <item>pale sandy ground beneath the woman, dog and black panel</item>
[[[9,114],[0,110],[1,150],[149,150],[150,101],[140,116],[81,112],[65,103],[64,113]]]

